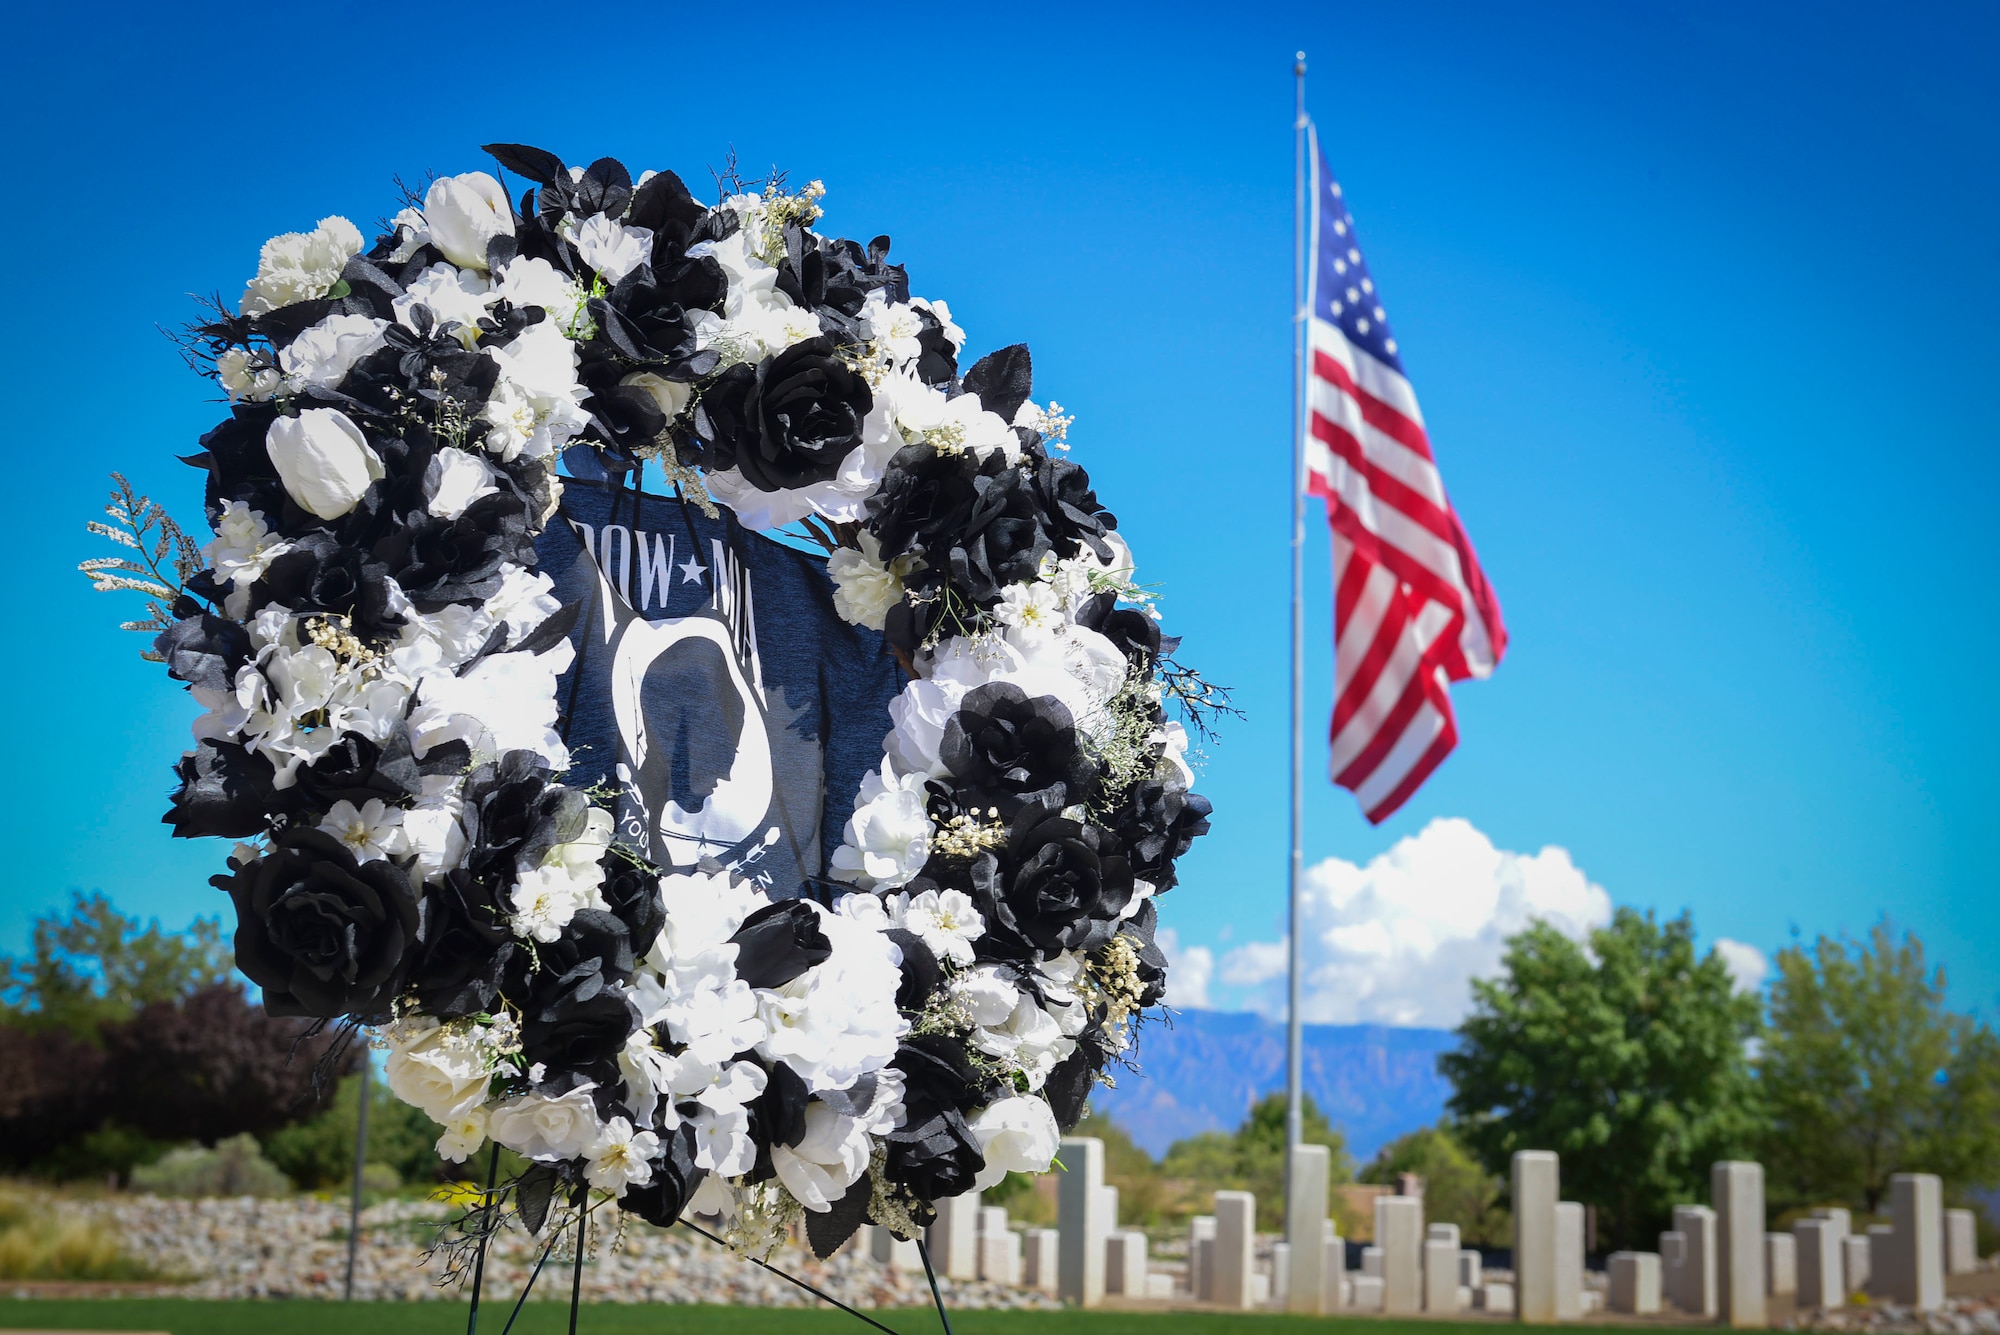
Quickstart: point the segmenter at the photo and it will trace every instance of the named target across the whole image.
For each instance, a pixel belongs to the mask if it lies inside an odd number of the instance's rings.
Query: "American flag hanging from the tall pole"
[[[1304,484],[1334,530],[1328,767],[1382,821],[1458,743],[1446,685],[1488,675],[1506,628],[1316,134],[1310,164]]]

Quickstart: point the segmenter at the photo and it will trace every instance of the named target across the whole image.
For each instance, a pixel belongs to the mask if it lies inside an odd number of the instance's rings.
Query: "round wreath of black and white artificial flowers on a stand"
[[[192,326],[228,398],[186,460],[212,542],[122,478],[92,526],[128,552],[86,574],[148,596],[128,626],[204,709],[164,819],[238,839],[214,883],[266,1007],[366,1029],[446,1159],[524,1155],[530,1227],[598,1193],[746,1249],[910,1235],[1046,1169],[1162,1001],[1156,897],[1210,813],[1176,715],[1218,701],[1028,350],[960,370],[888,238],[814,232],[818,182],[704,206],[488,152],[500,176],[410,192],[372,242],[272,238]],[[660,865],[564,781],[558,462],[794,526],[896,656],[802,897]]]

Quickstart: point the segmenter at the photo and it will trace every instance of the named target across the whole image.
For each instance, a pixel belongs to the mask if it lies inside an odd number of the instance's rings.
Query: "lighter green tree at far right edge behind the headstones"
[[[1944,1009],[1922,941],[1880,921],[1868,941],[1822,935],[1776,965],[1758,1067],[1780,1201],[1876,1213],[1892,1173],[2000,1183],[2000,1039]]]

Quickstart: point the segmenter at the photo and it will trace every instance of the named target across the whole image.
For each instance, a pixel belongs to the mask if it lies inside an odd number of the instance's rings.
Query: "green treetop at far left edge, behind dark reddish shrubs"
[[[0,1021],[96,1041],[106,1023],[224,983],[232,971],[214,917],[186,931],[166,931],[158,919],[142,927],[102,893],[76,893],[68,915],[34,919],[24,957],[0,959]]]

